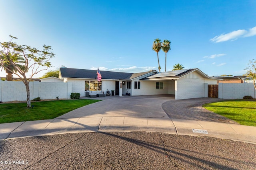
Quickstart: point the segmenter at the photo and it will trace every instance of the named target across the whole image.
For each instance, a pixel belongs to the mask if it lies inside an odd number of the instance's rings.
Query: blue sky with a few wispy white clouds
[[[209,76],[242,75],[256,59],[255,0],[0,0],[0,6],[0,41],[12,35],[20,45],[52,46],[50,70],[158,70],[156,38],[171,41],[166,71],[180,63]],[[159,59],[163,72],[163,51]]]

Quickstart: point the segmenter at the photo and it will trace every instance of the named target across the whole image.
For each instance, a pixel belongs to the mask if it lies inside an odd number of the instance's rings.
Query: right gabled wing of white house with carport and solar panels
[[[176,100],[208,97],[208,84],[218,81],[198,68],[160,72],[140,80],[147,82],[148,95],[175,94]]]

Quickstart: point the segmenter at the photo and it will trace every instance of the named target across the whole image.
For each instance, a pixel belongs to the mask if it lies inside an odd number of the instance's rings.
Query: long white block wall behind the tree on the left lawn
[[[40,97],[46,99],[70,99],[72,83],[64,82],[30,82],[30,98]],[[26,101],[26,86],[23,82],[0,81],[0,101]]]

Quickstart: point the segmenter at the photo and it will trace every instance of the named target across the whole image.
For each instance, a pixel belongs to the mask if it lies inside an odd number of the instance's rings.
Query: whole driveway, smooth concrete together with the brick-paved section
[[[218,98],[174,100],[174,95],[123,96],[80,107],[57,117],[57,119],[75,117],[152,117],[236,124],[236,122],[202,107],[202,104],[219,101],[223,100]]]

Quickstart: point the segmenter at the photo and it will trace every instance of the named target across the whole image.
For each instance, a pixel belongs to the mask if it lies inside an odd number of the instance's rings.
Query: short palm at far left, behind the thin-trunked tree
[[[25,60],[22,57],[18,56],[17,54],[15,57],[12,57],[11,53],[4,53],[4,55],[1,55],[1,57],[5,57],[7,61],[5,63],[0,64],[0,67],[2,66],[2,69],[4,68],[5,72],[7,73],[7,77],[6,77],[7,81],[12,81],[12,74],[14,72],[17,72],[13,63],[16,63],[16,66],[21,68],[21,70],[25,69],[25,66],[21,64],[21,63],[25,63]],[[13,61],[12,59],[15,59],[15,61]]]

